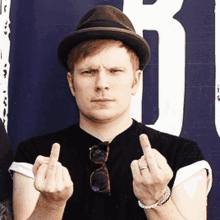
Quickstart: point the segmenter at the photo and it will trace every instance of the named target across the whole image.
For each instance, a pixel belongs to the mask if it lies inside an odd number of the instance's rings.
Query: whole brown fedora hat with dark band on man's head
[[[59,43],[58,59],[68,71],[67,59],[70,51],[79,43],[92,39],[120,40],[135,51],[140,60],[140,70],[148,64],[150,47],[146,40],[136,34],[131,21],[122,11],[105,5],[87,12],[76,30]]]

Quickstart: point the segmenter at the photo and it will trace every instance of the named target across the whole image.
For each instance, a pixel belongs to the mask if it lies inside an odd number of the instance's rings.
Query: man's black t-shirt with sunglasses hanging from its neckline
[[[204,159],[195,142],[155,131],[134,120],[110,143],[106,162],[110,175],[110,196],[93,192],[90,187],[90,175],[100,165],[89,159],[89,148],[101,141],[83,131],[79,124],[22,142],[14,161],[34,164],[38,155],[49,157],[52,144],[59,143],[59,161],[68,168],[74,183],[74,193],[67,202],[63,219],[146,219],[133,193],[130,169],[132,160],[143,155],[139,142],[142,133],[148,135],[152,148],[157,149],[172,168],[174,176],[169,183],[170,188],[178,169]]]

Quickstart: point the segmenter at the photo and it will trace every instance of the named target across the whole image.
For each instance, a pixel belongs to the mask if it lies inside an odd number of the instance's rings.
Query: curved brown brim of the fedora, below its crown
[[[143,70],[150,59],[150,47],[148,43],[133,31],[122,28],[93,27],[77,30],[66,36],[58,46],[58,59],[69,71],[67,64],[70,51],[83,41],[92,39],[114,39],[120,40],[135,51],[140,61],[140,70]]]

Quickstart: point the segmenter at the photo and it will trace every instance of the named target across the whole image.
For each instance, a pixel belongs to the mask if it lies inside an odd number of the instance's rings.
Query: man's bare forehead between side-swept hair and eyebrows
[[[90,53],[86,57],[78,60],[75,67],[104,65],[106,67],[113,66],[131,66],[131,59],[124,47],[118,45],[106,45],[96,53]]]

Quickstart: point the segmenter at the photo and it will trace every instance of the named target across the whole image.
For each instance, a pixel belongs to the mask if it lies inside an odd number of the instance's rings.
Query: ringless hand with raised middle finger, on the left
[[[51,205],[63,205],[73,194],[69,171],[58,162],[60,145],[53,144],[50,157],[38,156],[34,166],[34,187]]]

